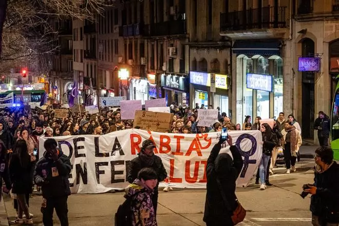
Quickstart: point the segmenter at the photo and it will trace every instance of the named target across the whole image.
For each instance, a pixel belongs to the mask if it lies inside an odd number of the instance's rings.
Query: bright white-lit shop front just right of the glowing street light
[[[148,82],[145,79],[131,79],[129,83],[129,100],[141,100],[145,104],[148,100]]]

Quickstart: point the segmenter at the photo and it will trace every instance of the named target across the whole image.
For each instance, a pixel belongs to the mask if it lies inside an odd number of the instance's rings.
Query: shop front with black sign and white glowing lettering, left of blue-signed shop
[[[175,74],[161,74],[161,87],[167,106],[173,103],[178,106],[189,106],[188,78]]]

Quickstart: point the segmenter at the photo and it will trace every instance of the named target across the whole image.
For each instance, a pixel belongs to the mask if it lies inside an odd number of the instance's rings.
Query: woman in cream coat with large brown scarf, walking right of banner
[[[302,136],[298,129],[292,125],[291,122],[285,123],[285,129],[281,131],[281,134],[284,137],[284,160],[286,164],[286,173],[290,174],[291,171],[295,172],[295,162],[297,158],[297,152],[302,145]]]

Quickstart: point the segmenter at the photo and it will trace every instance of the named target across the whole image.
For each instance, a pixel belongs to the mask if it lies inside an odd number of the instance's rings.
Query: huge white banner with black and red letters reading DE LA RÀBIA
[[[242,156],[243,168],[237,186],[247,186],[262,156],[261,132],[258,130],[229,131]],[[167,172],[167,179],[160,186],[170,183],[173,187],[201,189],[206,187],[205,168],[211,150],[218,143],[220,133],[167,134],[141,129],[126,129],[106,135],[53,137],[72,164],[69,178],[72,193],[104,193],[122,190],[128,185],[126,166],[138,157],[142,142],[152,139]],[[40,156],[44,141],[39,142]],[[220,153],[229,153],[227,142]]]

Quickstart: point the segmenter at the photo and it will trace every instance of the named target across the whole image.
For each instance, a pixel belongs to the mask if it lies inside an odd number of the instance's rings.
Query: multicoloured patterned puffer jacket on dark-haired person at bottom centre
[[[153,190],[149,189],[139,179],[136,179],[126,187],[125,192],[127,197],[133,197],[131,204],[131,225],[157,226],[157,219],[152,203]]]

